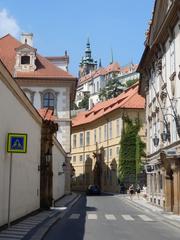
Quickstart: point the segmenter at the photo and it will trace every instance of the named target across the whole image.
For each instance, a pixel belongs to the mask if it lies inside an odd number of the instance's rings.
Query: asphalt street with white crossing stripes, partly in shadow
[[[82,196],[44,240],[179,240],[180,230],[122,196]]]

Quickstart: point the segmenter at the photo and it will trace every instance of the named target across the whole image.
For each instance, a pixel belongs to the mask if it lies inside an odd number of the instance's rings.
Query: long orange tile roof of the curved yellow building
[[[72,119],[72,127],[96,121],[116,109],[144,109],[145,99],[138,94],[138,88],[139,84],[135,83],[118,97],[100,102],[89,111],[80,112]]]

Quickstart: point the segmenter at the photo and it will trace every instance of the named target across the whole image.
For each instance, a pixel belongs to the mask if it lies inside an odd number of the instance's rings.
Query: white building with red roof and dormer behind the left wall
[[[76,78],[67,69],[68,56],[41,56],[32,44],[33,35],[21,42],[10,34],[0,38],[0,59],[37,110],[50,109],[58,125],[57,140],[66,153],[66,192],[70,191],[70,106],[75,97]]]

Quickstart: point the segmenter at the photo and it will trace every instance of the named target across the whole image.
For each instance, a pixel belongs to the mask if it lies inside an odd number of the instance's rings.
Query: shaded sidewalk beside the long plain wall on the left
[[[29,216],[0,231],[0,240],[41,240],[49,229],[78,201],[79,194],[65,195],[50,210]]]

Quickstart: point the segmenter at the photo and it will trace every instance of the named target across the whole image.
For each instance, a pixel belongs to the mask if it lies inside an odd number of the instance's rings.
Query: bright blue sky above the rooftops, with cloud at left
[[[34,34],[34,47],[44,56],[61,56],[67,50],[70,72],[78,65],[90,38],[92,56],[107,66],[111,60],[124,66],[138,63],[154,0],[1,0],[0,36],[10,32]]]

